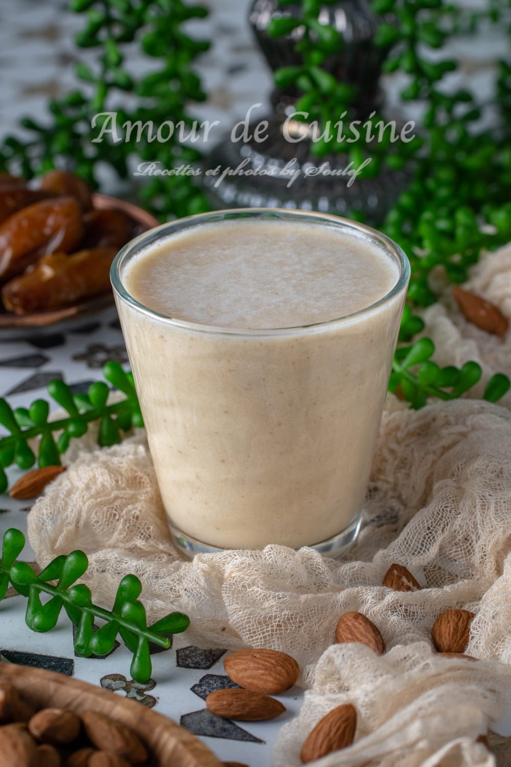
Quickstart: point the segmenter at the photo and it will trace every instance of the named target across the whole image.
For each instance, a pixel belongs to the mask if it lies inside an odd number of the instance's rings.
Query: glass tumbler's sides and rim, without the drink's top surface
[[[170,318],[130,295],[133,259],[185,230],[238,217],[335,227],[391,258],[395,284],[347,316],[264,330]],[[409,278],[404,252],[375,229],[283,209],[190,216],[120,251],[113,290],[179,549],[192,556],[282,544],[335,556],[355,540]]]

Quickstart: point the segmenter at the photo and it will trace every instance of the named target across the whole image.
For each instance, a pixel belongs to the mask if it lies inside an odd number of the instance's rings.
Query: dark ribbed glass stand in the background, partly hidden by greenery
[[[297,8],[286,6],[285,12],[295,15]],[[303,28],[297,27],[287,38],[272,38],[267,34],[270,20],[282,14],[277,0],[255,0],[249,13],[254,35],[272,70],[301,63],[294,44],[303,35]],[[387,51],[374,44],[378,21],[366,0],[339,0],[324,6],[319,21],[334,26],[345,43],[326,66],[339,81],[357,86],[361,94],[353,104],[352,114],[345,119],[348,122],[363,121],[373,110],[379,111],[383,104],[378,81]],[[267,120],[263,141],[256,141],[254,137],[247,142],[232,141],[228,136],[206,157],[204,170],[220,166],[216,176],[201,175],[211,204],[216,208],[300,208],[339,216],[359,210],[370,222],[381,220],[405,185],[406,173],[383,167],[378,178],[358,177],[349,186],[347,154],[331,153],[318,158],[310,151],[309,136],[296,143],[284,137],[284,123],[295,112],[298,97],[294,87],[286,91],[274,90],[271,96],[274,113],[255,117],[247,131],[248,135],[254,133],[257,123]],[[332,115],[332,121],[339,117]],[[286,126],[288,134],[295,132],[295,138],[299,137],[300,131],[309,130],[306,123],[296,120],[290,122],[288,119]],[[323,163],[327,164],[323,166]],[[323,166],[323,172],[314,170],[320,166]],[[226,174],[219,182],[226,169],[238,169],[242,173]]]

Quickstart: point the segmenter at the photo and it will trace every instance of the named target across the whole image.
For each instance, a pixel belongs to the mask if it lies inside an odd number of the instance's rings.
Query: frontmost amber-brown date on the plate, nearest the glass
[[[110,289],[110,265],[115,255],[115,248],[45,255],[24,275],[4,285],[4,306],[15,314],[29,314],[104,293]]]

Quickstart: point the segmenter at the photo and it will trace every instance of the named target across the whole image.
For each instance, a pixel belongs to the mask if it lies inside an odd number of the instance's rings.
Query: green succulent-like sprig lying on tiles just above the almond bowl
[[[76,584],[89,566],[83,551],[71,551],[67,556],[55,558],[37,575],[26,562],[16,561],[24,546],[25,535],[22,532],[15,528],[5,532],[0,560],[0,600],[5,597],[9,582],[18,594],[28,597],[25,621],[33,631],[44,632],[54,628],[64,607],[77,628],[74,650],[80,657],[107,655],[113,650],[119,635],[133,653],[130,667],[133,679],[144,683],[152,672],[149,643],[169,648],[171,643],[167,635],[179,634],[190,624],[185,614],[175,612],[148,627],[145,608],[138,598],[142,584],[136,575],[126,575],[120,581],[112,610],[104,610],[93,604],[86,585]],[[57,581],[57,584],[52,581]],[[41,594],[47,594],[50,598],[43,603]],[[98,629],[94,626],[95,618],[104,621]]]

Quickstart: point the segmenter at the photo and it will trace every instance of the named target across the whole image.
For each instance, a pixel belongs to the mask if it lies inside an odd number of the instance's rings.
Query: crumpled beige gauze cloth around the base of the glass
[[[300,663],[300,684],[310,689],[280,730],[274,767],[300,765],[306,734],[348,701],[357,710],[355,742],[318,767],[511,764],[509,742],[500,739],[499,762],[476,742],[511,711],[505,407],[465,399],[415,412],[390,397],[362,532],[339,561],[275,545],[184,561],[170,542],[142,430],[109,449],[93,448],[87,435],[66,461],[28,518],[41,565],[81,548],[95,601],[110,606],[120,578],[133,572],[149,621],[172,610],[190,615],[181,644],[273,647]],[[393,562],[408,567],[421,591],[381,585]],[[431,627],[449,607],[476,613],[466,651],[483,660],[434,654]],[[352,610],[381,630],[385,655],[333,644],[340,615]]]

